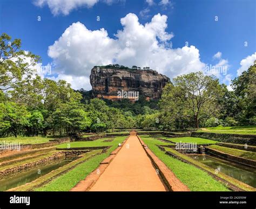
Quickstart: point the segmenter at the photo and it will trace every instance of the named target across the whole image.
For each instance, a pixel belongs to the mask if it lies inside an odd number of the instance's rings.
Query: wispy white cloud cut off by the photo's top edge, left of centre
[[[55,16],[62,13],[63,15],[69,15],[70,11],[77,9],[79,7],[91,8],[100,0],[35,0],[36,6],[48,5],[51,13]],[[102,0],[106,4],[112,4],[117,2],[117,0]]]

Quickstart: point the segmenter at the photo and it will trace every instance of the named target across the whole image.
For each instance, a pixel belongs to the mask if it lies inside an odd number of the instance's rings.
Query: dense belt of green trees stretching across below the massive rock
[[[114,129],[184,129],[256,124],[256,62],[232,80],[232,91],[202,72],[180,75],[159,101],[92,99],[64,80],[41,78],[40,58],[21,40],[0,37],[0,136],[72,135]],[[138,69],[139,70],[139,69]]]

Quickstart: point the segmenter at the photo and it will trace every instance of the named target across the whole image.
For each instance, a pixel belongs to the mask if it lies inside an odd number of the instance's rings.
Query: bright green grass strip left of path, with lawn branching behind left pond
[[[105,153],[96,155],[88,159],[86,162],[79,164],[76,168],[70,170],[69,172],[64,173],[63,175],[53,179],[50,183],[39,187],[35,191],[69,191],[74,187],[80,180],[83,180],[87,175],[89,175],[93,170],[98,168],[99,163],[103,161],[106,157],[110,155],[110,153],[118,147],[119,143],[122,143],[125,140],[126,136],[119,136],[114,138],[112,142],[100,142],[100,140],[96,140],[93,142],[73,142],[76,144],[72,144],[72,147],[93,147],[95,144],[97,146],[102,146],[103,144],[111,144],[112,147],[107,150]],[[77,144],[80,143],[80,144]],[[83,144],[83,145],[82,145]],[[92,145],[93,144],[93,145]]]

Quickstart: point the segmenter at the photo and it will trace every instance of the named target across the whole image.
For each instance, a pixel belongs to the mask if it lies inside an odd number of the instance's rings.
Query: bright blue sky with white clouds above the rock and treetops
[[[228,85],[230,79],[250,66],[255,58],[256,5],[253,0],[108,0],[108,3],[95,0],[90,6],[86,0],[83,5],[64,0],[68,3],[48,4],[55,1],[41,0],[44,4],[39,6],[37,0],[2,0],[0,32],[22,39],[23,50],[40,55],[41,66],[49,64],[52,67],[51,74],[42,76],[66,79],[74,88],[90,89],[91,67],[114,61],[127,66],[151,65],[170,78],[218,65],[226,67],[227,73],[215,75]],[[129,13],[132,15],[127,16]],[[156,16],[158,13],[160,15]],[[151,20],[154,16],[156,21]],[[120,19],[124,17],[122,25]],[[140,31],[140,26],[150,22],[151,26]],[[95,38],[90,32],[102,28],[107,36],[100,31]],[[69,33],[58,40],[66,29]],[[115,36],[118,30],[123,32]],[[131,30],[137,30],[138,37]],[[143,36],[140,34],[145,34],[149,45],[146,41],[141,44]],[[73,41],[71,46],[63,44],[66,40]],[[107,46],[101,45],[104,41]],[[183,48],[186,41],[187,47]],[[131,45],[128,51],[127,46],[123,46],[127,42]],[[49,46],[53,46],[51,50]],[[111,52],[106,52],[108,48]],[[214,58],[217,52],[220,53]]]

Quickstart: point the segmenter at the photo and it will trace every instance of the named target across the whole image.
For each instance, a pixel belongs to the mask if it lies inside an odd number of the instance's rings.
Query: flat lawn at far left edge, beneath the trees
[[[8,143],[21,143],[21,144],[38,144],[38,143],[45,143],[49,142],[49,140],[53,140],[53,138],[46,138],[41,136],[31,136],[31,137],[5,137],[0,138],[0,143],[8,142]]]

